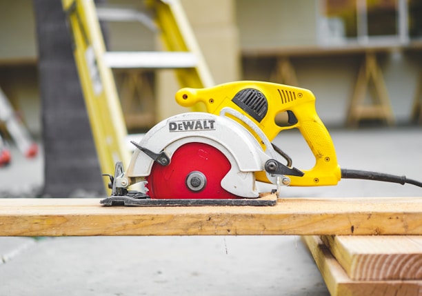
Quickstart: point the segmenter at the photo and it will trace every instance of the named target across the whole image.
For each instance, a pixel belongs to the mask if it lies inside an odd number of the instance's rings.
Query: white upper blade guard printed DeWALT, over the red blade
[[[254,172],[262,171],[270,157],[248,130],[228,117],[205,112],[175,115],[147,132],[139,146],[156,153],[164,151],[171,163],[174,153],[189,143],[217,148],[230,161],[230,170],[221,179],[222,188],[239,197],[259,197]],[[148,177],[153,164],[148,155],[135,150],[125,176]]]

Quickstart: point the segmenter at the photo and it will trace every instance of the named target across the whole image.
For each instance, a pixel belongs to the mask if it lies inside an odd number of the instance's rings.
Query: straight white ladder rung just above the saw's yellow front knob
[[[105,52],[110,68],[194,68],[197,57],[191,52]]]

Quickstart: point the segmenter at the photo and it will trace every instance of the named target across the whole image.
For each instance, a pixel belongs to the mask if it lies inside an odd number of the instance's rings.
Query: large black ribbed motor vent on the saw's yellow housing
[[[267,98],[265,98],[262,92],[254,88],[245,88],[237,92],[232,102],[258,122],[261,122],[265,115],[267,115]]]

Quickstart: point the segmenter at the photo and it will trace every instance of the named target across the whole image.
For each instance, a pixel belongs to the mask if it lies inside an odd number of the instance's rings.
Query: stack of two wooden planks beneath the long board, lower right
[[[303,236],[332,296],[422,295],[422,236]]]

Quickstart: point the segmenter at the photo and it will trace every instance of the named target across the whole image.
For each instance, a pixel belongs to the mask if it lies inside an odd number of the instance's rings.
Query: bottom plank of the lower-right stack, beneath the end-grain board
[[[315,235],[302,237],[331,296],[417,296],[422,295],[420,280],[356,281],[350,279],[323,241]]]

